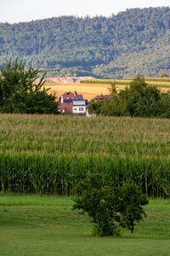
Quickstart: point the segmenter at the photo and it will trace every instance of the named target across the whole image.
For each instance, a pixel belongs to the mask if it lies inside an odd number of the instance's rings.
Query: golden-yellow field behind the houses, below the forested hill
[[[59,96],[63,95],[67,91],[74,92],[77,91],[78,94],[82,94],[84,99],[88,99],[91,101],[98,95],[108,95],[110,91],[110,83],[114,80],[106,80],[106,79],[88,79],[82,80],[81,83],[75,84],[54,84],[54,83],[46,83],[45,88],[50,88],[49,93],[56,94]],[[132,79],[120,79],[115,80],[116,82],[116,90],[124,89],[125,86],[128,86],[129,82]],[[147,84],[151,86],[158,87],[161,91],[167,92],[170,90],[170,79],[145,79]]]

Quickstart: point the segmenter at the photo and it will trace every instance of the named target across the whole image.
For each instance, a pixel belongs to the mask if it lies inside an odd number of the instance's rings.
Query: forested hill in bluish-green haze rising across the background
[[[168,73],[170,8],[127,9],[110,18],[0,23],[0,64],[17,56],[49,76],[118,79]]]

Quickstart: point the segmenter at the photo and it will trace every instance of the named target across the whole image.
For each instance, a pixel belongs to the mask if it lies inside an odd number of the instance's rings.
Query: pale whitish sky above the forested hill
[[[109,17],[126,9],[161,6],[170,7],[170,0],[0,0],[0,22],[18,23],[61,15]]]

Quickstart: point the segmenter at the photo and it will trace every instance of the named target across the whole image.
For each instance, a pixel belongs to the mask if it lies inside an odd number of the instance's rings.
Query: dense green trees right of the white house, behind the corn
[[[112,100],[92,102],[89,113],[108,116],[159,117],[170,118],[170,90],[162,93],[156,87],[145,83],[137,76],[125,90],[116,90],[111,84]]]

